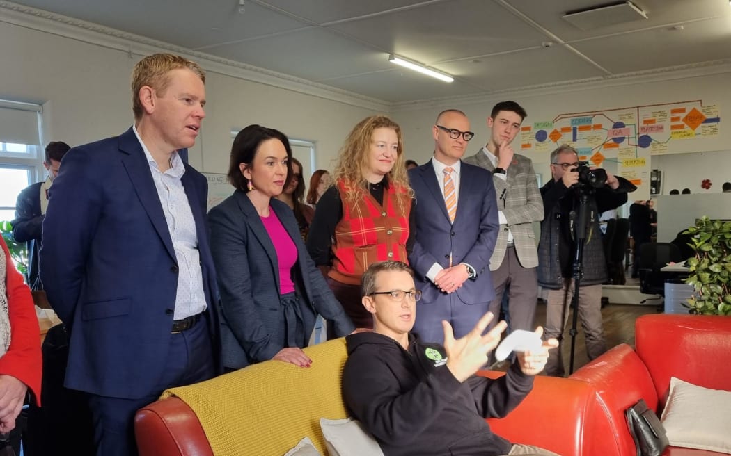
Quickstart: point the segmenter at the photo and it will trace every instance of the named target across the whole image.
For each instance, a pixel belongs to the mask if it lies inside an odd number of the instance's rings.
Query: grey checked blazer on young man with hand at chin
[[[495,166],[483,149],[466,158],[464,162],[491,172],[495,170]],[[509,228],[520,266],[535,268],[538,266],[538,243],[532,223],[543,220],[543,199],[538,189],[533,162],[530,158],[515,154],[507,169],[507,179],[493,175],[493,185],[498,209],[505,215],[507,225],[500,225],[495,251],[490,258],[490,270],[495,271],[502,264],[507,250]]]

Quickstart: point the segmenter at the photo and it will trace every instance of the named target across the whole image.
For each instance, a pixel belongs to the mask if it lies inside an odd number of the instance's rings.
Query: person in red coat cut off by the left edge
[[[0,438],[20,455],[20,432],[12,433],[26,392],[40,406],[41,344],[33,298],[0,236]],[[14,435],[17,434],[17,435]]]

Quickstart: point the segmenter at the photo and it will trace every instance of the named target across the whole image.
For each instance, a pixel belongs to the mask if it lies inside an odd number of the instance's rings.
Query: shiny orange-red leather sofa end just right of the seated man
[[[496,378],[502,373],[480,371]],[[613,436],[594,433],[594,391],[573,379],[536,376],[533,390],[504,418],[488,418],[494,433],[512,443],[536,445],[559,455],[596,455],[586,441],[610,444]]]

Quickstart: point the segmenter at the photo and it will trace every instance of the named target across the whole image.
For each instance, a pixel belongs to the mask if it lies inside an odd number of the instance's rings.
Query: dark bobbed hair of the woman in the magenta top
[[[243,130],[239,131],[236,138],[233,140],[231,146],[231,161],[229,165],[228,179],[238,190],[244,193],[249,192],[248,183],[249,179],[243,177],[243,173],[239,168],[240,163],[245,163],[246,166],[251,166],[254,161],[254,157],[257,155],[257,150],[262,142],[268,139],[279,139],[281,144],[284,144],[284,149],[287,150],[287,179],[284,182],[289,182],[289,177],[292,175],[292,164],[289,161],[292,160],[292,147],[289,146],[289,139],[279,130],[274,128],[262,127],[262,125],[249,125]],[[300,167],[301,168],[301,167]]]

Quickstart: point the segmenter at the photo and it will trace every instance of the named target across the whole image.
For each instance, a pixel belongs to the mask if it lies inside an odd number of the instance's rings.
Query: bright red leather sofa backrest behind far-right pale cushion
[[[713,390],[731,390],[731,317],[643,315],[635,321],[635,344],[662,407],[671,376]]]

